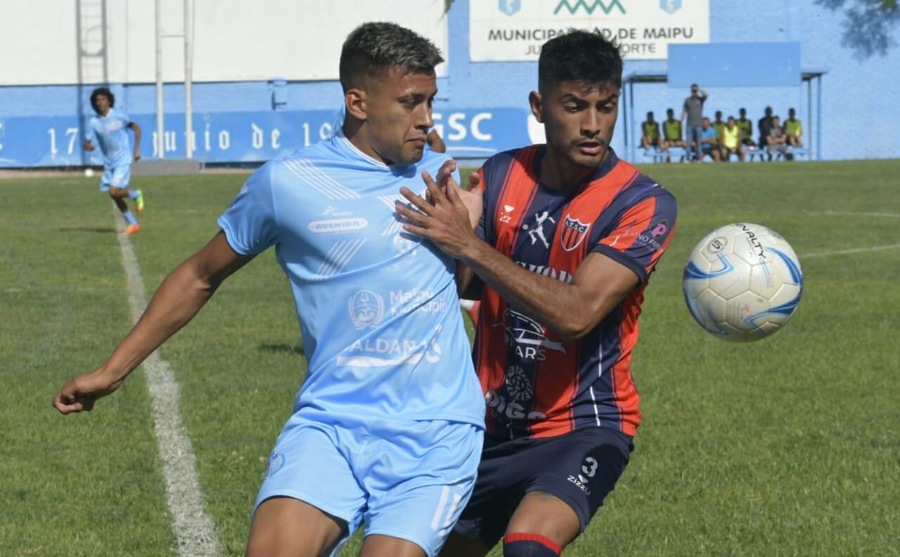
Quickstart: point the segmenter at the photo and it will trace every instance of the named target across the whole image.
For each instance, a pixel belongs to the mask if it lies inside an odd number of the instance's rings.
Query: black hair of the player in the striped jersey
[[[537,60],[541,93],[564,81],[622,87],[622,53],[599,33],[571,31],[544,43]]]

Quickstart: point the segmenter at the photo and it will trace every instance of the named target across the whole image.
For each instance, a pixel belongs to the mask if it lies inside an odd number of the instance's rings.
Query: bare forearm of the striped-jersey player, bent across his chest
[[[582,300],[577,287],[526,270],[481,241],[464,254],[464,263],[509,305],[562,340],[581,338],[593,328],[596,304]]]

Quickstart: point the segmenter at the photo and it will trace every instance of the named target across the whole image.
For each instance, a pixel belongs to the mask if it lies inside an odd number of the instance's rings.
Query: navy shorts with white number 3
[[[609,428],[554,438],[488,439],[475,491],[455,530],[493,547],[525,494],[543,491],[575,511],[583,532],[613,491],[633,449],[632,438]]]

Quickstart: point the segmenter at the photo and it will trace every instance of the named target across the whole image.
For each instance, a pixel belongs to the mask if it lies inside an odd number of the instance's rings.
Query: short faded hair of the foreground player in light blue
[[[430,74],[444,61],[428,39],[396,23],[363,23],[350,31],[340,52],[340,84],[348,89],[367,77],[380,77],[392,68],[404,74]]]

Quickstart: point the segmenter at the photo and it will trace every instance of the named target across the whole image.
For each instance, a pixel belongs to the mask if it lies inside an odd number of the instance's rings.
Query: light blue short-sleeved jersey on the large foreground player
[[[447,158],[389,167],[338,134],[254,172],[219,218],[236,252],[275,245],[290,279],[309,360],[294,411],[484,427],[455,263],[394,211]]]

